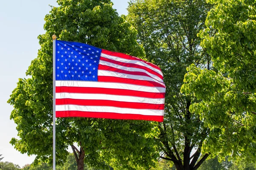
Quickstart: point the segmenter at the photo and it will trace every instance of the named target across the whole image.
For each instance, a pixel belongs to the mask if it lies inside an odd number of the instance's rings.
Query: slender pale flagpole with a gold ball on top
[[[53,59],[52,59],[52,78],[53,78],[53,81],[52,81],[52,86],[53,86],[53,108],[52,108],[52,112],[53,112],[53,155],[52,155],[52,158],[53,158],[53,170],[55,170],[55,154],[56,154],[56,151],[55,151],[55,143],[56,143],[56,139],[55,139],[55,119],[56,119],[56,115],[55,115],[55,55],[56,55],[56,35],[52,35],[52,40],[53,40]]]

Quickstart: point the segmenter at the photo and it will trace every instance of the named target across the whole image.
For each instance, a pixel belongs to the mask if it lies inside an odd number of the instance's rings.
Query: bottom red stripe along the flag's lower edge
[[[90,117],[105,119],[133,119],[133,120],[150,120],[163,122],[163,116],[148,116],[140,114],[120,114],[108,112],[84,112],[84,111],[56,111],[56,117]]]

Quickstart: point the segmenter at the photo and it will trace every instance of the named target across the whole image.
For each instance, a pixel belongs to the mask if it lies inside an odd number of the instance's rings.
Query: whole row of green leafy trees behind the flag
[[[51,36],[56,34],[153,62],[166,84],[163,123],[57,119],[58,164],[69,156],[69,145],[81,162],[99,169],[168,164],[196,170],[218,164],[215,156],[227,169],[227,156],[236,168],[242,158],[255,160],[255,0],[131,0],[127,16],[118,16],[110,0],[57,2],[45,17],[46,33],[38,37],[38,57],[26,72],[31,78],[19,79],[8,101],[20,137],[11,141],[17,150],[36,154],[35,164],[52,161]]]

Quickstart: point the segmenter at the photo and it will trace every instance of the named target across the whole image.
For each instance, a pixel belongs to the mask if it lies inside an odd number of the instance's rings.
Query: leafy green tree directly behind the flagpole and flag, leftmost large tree
[[[52,40],[84,42],[99,48],[143,57],[136,31],[119,17],[110,0],[58,0],[45,17],[45,34],[39,35],[38,57],[19,79],[9,104],[19,139],[11,144],[21,153],[35,154],[34,163],[52,162]],[[156,147],[152,136],[156,123],[90,118],[56,120],[56,161],[63,164],[70,145],[78,165],[109,168],[145,168],[154,164]],[[78,144],[80,148],[75,147]],[[140,169],[140,168],[139,168]]]

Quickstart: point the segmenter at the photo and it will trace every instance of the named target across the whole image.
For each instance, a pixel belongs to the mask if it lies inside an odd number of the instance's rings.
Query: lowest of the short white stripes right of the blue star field
[[[117,73],[114,71],[98,70],[98,76],[111,76],[111,77],[121,77],[121,78],[126,78],[126,79],[145,80],[145,81],[157,82],[161,85],[164,85],[164,83],[159,82],[159,81],[152,79],[150,77],[147,77],[147,76],[138,76],[138,75],[125,74],[125,73]]]

